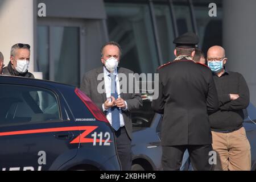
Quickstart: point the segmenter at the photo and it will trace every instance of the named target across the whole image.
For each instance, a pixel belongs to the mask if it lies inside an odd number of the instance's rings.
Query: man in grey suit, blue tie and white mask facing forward
[[[130,111],[142,107],[142,98],[139,93],[127,93],[127,90],[121,89],[120,77],[125,76],[128,81],[129,76],[133,76],[133,71],[117,67],[120,56],[121,48],[118,43],[108,42],[102,46],[101,62],[103,66],[85,73],[80,89],[106,114],[115,130],[122,169],[127,171],[131,169],[132,125]],[[126,86],[125,88],[129,88],[129,86],[134,88],[134,84],[127,83]]]

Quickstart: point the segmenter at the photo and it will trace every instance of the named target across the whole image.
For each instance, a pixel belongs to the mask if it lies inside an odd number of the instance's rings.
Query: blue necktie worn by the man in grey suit
[[[118,94],[117,94],[117,84],[115,84],[115,75],[111,73],[110,78],[111,78],[111,96],[113,96],[115,100],[117,100]],[[112,107],[111,114],[112,114],[112,127],[115,131],[117,131],[120,128],[119,108],[117,106]]]

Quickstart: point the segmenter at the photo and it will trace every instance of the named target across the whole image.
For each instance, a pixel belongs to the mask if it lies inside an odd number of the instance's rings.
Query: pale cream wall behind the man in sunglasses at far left
[[[34,72],[34,1],[0,0],[0,51],[5,65],[10,61],[11,46],[27,43],[31,46],[30,72]]]

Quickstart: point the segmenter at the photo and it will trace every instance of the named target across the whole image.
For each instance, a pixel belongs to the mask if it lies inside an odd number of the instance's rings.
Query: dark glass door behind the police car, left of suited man
[[[43,79],[80,86],[83,24],[48,21],[39,23],[37,32],[36,69]]]

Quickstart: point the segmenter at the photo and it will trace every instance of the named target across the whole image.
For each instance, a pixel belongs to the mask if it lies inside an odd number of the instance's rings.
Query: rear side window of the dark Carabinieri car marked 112
[[[53,92],[23,85],[0,85],[0,126],[60,120]]]

